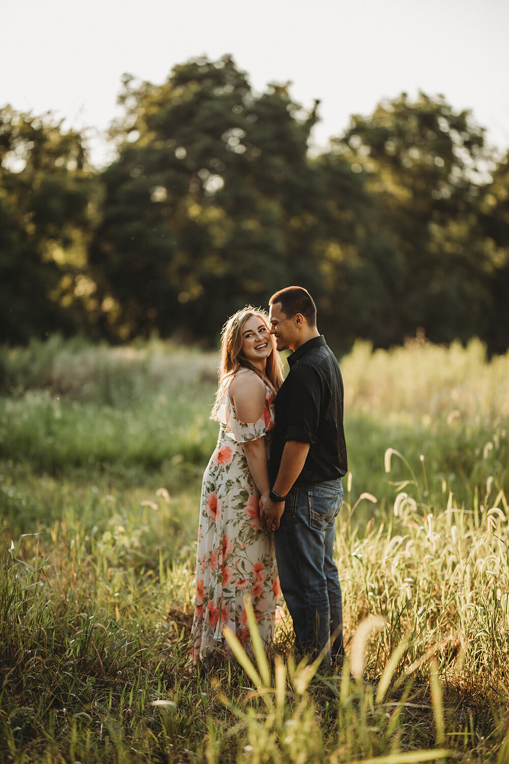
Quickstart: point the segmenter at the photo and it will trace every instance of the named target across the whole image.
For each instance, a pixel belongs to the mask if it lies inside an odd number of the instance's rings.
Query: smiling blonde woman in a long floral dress
[[[224,325],[211,419],[219,439],[201,489],[192,660],[230,655],[224,626],[249,649],[244,597],[266,647],[274,635],[279,580],[272,536],[259,520],[269,494],[267,452],[282,366],[266,314],[250,306]]]

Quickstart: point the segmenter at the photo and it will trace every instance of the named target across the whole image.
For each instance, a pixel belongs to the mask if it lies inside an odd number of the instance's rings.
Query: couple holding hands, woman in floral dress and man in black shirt
[[[270,649],[281,591],[298,652],[314,658],[326,648],[328,666],[343,655],[333,562],[346,474],[343,380],[311,295],[288,286],[269,305],[269,321],[247,307],[223,329],[211,415],[221,428],[201,491],[194,664],[230,655],[224,626],[250,649],[246,595]],[[293,351],[285,380],[276,349]]]

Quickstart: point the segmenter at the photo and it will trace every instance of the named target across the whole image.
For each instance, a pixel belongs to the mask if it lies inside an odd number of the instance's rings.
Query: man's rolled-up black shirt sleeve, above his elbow
[[[288,397],[286,440],[316,442],[321,405],[321,378],[311,366],[292,370],[292,389]]]

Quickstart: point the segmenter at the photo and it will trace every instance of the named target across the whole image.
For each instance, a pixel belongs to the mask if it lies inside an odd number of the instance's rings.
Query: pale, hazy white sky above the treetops
[[[419,90],[471,109],[488,143],[509,147],[508,0],[0,0],[0,106],[87,128],[92,162],[123,73],[163,83],[172,67],[231,53],[256,92],[290,81],[320,99],[315,146],[350,115]]]

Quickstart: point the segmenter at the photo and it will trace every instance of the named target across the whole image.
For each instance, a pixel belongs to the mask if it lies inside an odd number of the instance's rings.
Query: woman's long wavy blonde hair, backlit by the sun
[[[234,378],[235,373],[240,368],[250,369],[263,380],[264,384],[272,390],[273,393],[277,393],[279,387],[283,382],[283,370],[282,363],[279,358],[279,354],[275,349],[275,339],[273,335],[269,335],[269,342],[272,343],[272,352],[267,358],[265,374],[256,366],[250,363],[242,353],[243,345],[243,325],[247,319],[251,316],[259,316],[269,329],[269,316],[266,311],[261,308],[253,308],[251,305],[247,305],[242,310],[237,310],[234,316],[231,316],[225,323],[221,331],[221,354],[219,356],[219,363],[217,364],[217,393],[214,407],[211,413],[211,419],[217,419],[217,410],[220,406],[221,399],[224,396],[224,391],[227,390],[231,380]]]

